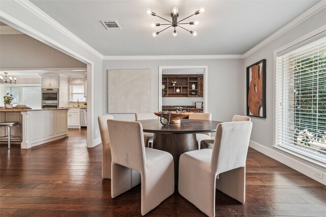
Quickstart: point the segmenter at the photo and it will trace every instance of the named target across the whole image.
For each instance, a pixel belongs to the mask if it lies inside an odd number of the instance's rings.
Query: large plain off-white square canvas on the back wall
[[[110,69],[107,77],[108,113],[151,112],[150,69]]]

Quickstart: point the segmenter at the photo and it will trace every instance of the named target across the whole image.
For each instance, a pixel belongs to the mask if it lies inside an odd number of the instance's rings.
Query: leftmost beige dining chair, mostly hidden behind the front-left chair
[[[111,179],[111,147],[110,137],[108,137],[107,119],[114,119],[113,115],[98,116],[98,126],[102,143],[102,178]]]

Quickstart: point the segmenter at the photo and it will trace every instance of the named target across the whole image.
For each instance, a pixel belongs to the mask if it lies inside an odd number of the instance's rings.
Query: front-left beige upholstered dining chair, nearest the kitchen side
[[[141,212],[145,215],[174,193],[174,161],[170,153],[145,148],[137,121],[107,120],[112,153],[112,198],[128,191],[130,170],[141,174]],[[127,133],[126,133],[127,131]]]

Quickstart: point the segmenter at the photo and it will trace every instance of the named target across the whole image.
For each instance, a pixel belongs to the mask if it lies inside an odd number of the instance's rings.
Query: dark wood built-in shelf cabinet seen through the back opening
[[[204,75],[162,75],[162,97],[203,97]]]

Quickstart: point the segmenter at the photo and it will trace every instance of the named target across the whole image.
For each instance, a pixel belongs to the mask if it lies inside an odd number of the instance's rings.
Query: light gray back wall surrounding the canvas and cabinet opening
[[[243,115],[243,59],[218,60],[104,60],[103,114],[107,114],[107,70],[151,69],[152,112],[158,111],[158,66],[208,66],[208,112],[213,120],[230,121]],[[115,118],[134,120],[134,114],[114,114]]]

